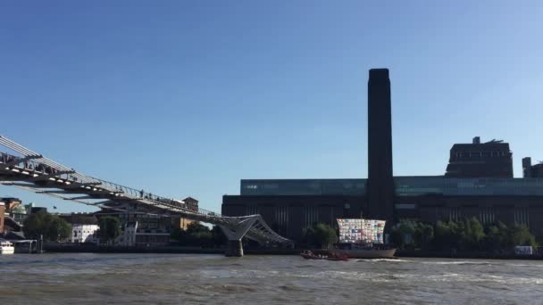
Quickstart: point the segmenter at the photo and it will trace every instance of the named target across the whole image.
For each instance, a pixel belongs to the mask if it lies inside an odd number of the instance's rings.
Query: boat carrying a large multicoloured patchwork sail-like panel
[[[338,218],[334,254],[351,259],[395,259],[396,248],[388,248],[383,240],[385,225],[385,220]]]

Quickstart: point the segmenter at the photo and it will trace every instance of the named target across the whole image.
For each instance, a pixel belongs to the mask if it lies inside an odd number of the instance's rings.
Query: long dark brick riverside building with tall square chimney
[[[261,214],[295,241],[315,222],[336,226],[336,218],[360,217],[432,223],[476,217],[543,235],[543,178],[514,178],[509,144],[475,137],[453,145],[443,176],[394,177],[390,113],[388,70],[370,70],[367,179],[242,179],[239,195],[222,197],[222,214]]]

